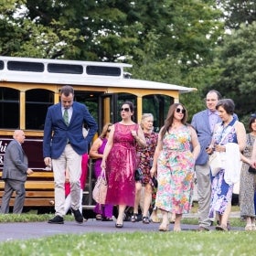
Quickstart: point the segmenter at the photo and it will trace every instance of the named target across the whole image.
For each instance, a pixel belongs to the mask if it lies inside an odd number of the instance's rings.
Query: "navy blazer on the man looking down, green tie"
[[[74,151],[83,155],[88,152],[88,144],[98,130],[98,125],[84,104],[74,101],[69,125],[64,122],[61,103],[48,107],[44,126],[43,156],[59,158],[69,140]],[[87,123],[89,132],[82,135],[83,124]]]

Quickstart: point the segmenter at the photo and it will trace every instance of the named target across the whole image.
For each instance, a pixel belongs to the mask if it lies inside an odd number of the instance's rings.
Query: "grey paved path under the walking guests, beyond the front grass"
[[[47,222],[18,222],[18,223],[0,223],[0,242],[7,240],[28,240],[42,237],[53,236],[57,234],[84,234],[88,232],[156,232],[159,223],[143,224],[142,222],[123,222],[123,229],[116,229],[114,221],[97,221],[89,219],[83,224],[77,224],[75,221],[65,221],[65,224],[48,224]],[[182,224],[182,230],[196,230],[197,225]],[[173,224],[170,225],[170,230]],[[215,230],[215,227],[210,227]],[[231,230],[243,230],[243,228],[231,227]]]

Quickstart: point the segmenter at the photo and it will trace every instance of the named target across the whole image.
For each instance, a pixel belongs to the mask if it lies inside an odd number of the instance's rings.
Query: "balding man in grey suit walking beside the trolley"
[[[24,143],[25,133],[22,130],[14,132],[12,140],[5,151],[5,160],[2,178],[5,180],[5,193],[2,198],[1,213],[9,212],[9,202],[16,191],[13,213],[22,213],[24,200],[26,197],[25,182],[27,176],[33,174],[28,168],[27,155],[23,151],[21,144]]]

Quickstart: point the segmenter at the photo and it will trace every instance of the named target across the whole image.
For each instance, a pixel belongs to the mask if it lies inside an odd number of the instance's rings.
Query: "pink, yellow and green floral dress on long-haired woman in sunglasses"
[[[163,150],[157,160],[157,208],[176,214],[188,213],[191,209],[195,160],[190,143],[187,125],[165,133]]]

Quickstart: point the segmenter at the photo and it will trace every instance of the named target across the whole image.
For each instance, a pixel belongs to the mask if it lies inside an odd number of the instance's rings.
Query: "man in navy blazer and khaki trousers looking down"
[[[80,213],[81,156],[88,152],[88,144],[97,132],[98,125],[84,104],[73,101],[74,90],[65,85],[60,90],[60,102],[48,108],[45,126],[43,155],[47,166],[52,165],[55,182],[55,217],[48,223],[63,224],[65,215],[65,170],[69,169],[71,211],[78,223]],[[83,137],[84,123],[89,129]]]

